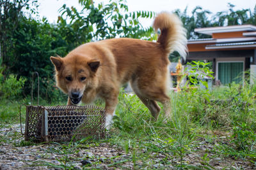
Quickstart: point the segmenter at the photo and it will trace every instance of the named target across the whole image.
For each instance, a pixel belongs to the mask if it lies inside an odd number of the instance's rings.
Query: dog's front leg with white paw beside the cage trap
[[[106,110],[106,129],[109,130],[111,124],[113,124],[113,115],[115,115],[116,105],[118,103],[117,96],[108,97],[105,99],[105,110]]]

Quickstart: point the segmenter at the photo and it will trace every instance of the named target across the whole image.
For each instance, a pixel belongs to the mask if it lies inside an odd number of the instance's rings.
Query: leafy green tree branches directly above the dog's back
[[[152,27],[144,28],[139,18],[152,18],[152,11],[129,13],[123,0],[109,1],[95,6],[92,0],[79,0],[83,10],[77,11],[63,4],[58,18],[58,27],[70,50],[89,41],[116,37],[153,38]],[[76,42],[76,43],[74,43]]]

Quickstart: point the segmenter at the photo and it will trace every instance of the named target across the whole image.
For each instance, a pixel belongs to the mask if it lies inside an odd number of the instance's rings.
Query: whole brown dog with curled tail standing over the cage
[[[131,38],[106,39],[78,46],[64,58],[51,57],[57,86],[69,96],[67,104],[104,99],[108,127],[119,89],[129,81],[154,118],[158,118],[160,111],[156,102],[163,103],[165,116],[169,117],[168,55],[176,50],[186,56],[186,31],[179,18],[169,13],[157,15],[154,29],[161,31],[156,43]]]

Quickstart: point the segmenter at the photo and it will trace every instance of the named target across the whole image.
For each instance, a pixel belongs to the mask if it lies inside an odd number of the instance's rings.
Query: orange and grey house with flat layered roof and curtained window
[[[256,26],[234,25],[195,29],[207,39],[189,39],[189,60],[212,61],[215,80],[222,84],[243,80],[250,69],[251,82],[256,76]]]

